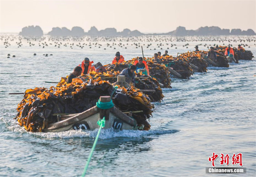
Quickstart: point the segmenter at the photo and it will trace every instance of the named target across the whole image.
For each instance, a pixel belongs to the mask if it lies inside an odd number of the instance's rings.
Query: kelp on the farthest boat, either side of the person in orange
[[[219,51],[220,53],[222,53],[224,55],[225,50],[226,50],[226,46],[219,46],[216,50]],[[245,50],[244,48],[242,49],[237,49],[237,48],[233,48],[234,53],[235,53],[235,59],[238,60],[252,60],[252,58],[254,57],[252,52],[250,50]]]

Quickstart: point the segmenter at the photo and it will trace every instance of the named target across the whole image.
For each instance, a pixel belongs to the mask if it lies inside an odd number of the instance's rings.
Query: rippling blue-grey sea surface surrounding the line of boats
[[[4,43],[7,39],[8,47]],[[59,81],[84,57],[94,63],[108,64],[116,51],[125,59],[142,56],[140,45],[144,56],[152,57],[157,51],[163,54],[168,50],[176,56],[177,52],[194,50],[196,44],[202,44],[199,50],[207,50],[207,46],[223,43],[248,44],[245,49],[256,55],[255,36],[143,36],[88,38],[83,42],[70,38],[49,41],[46,36],[40,42],[48,44],[44,48],[42,44],[39,46],[38,39],[24,38],[18,48],[17,35],[1,35],[0,40],[0,176],[81,176],[97,130],[27,132],[13,119],[22,95],[8,93],[49,88],[53,84],[44,81]],[[54,42],[62,44],[54,47]],[[65,43],[67,47],[63,46]],[[70,43],[74,45],[70,47]],[[82,43],[83,49],[79,47]],[[7,54],[11,57],[7,58]],[[205,174],[205,167],[211,167],[208,158],[213,152],[219,156],[229,154],[228,167],[240,167],[232,165],[232,155],[242,153],[243,167],[247,168],[246,174],[215,176],[256,176],[255,74],[253,58],[230,64],[229,68],[209,67],[207,73],[194,73],[188,80],[173,79],[172,88],[163,89],[164,100],[154,103],[149,131],[101,131],[86,176],[211,176]],[[222,167],[220,157],[215,165]]]

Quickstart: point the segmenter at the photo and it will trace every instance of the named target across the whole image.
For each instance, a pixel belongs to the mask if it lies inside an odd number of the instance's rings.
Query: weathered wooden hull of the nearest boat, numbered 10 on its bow
[[[109,102],[110,96],[101,96],[101,102]],[[127,112],[126,112],[127,113]],[[131,112],[130,112],[131,116]],[[137,126],[137,122],[132,117],[129,117],[124,112],[121,112],[115,106],[110,109],[100,109],[94,106],[84,112],[61,116],[57,115],[58,122],[50,124],[44,132],[62,132],[67,130],[94,130],[99,128],[97,124],[99,119],[105,117],[105,127],[119,130],[130,130]]]

